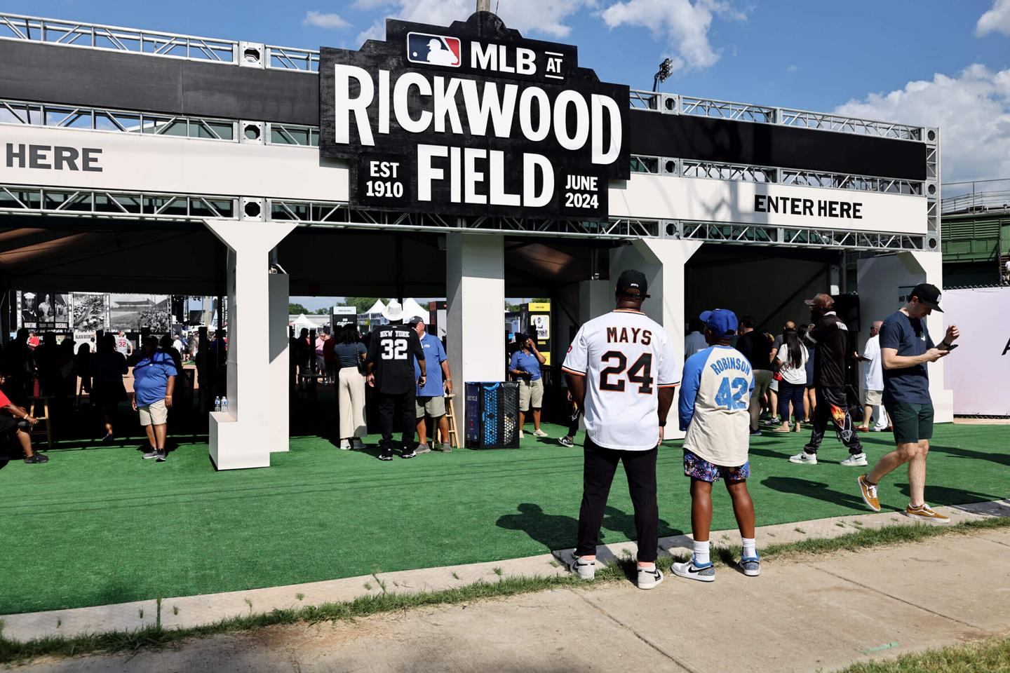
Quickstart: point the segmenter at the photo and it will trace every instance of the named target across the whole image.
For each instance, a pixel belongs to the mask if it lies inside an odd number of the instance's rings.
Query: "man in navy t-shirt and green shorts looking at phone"
[[[874,512],[880,512],[877,484],[892,470],[908,463],[909,503],[905,516],[948,524],[947,517],[925,502],[926,454],[933,436],[933,403],[926,363],[946,356],[954,339],[961,336],[957,326],[950,325],[943,341],[933,345],[925,318],[933,311],[942,313],[939,301],[940,291],[935,286],[919,284],[909,294],[908,304],[888,316],[881,326],[884,407],[891,415],[897,449],[877,461],[869,474],[858,478],[858,483],[864,501]]]

